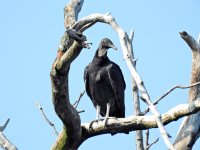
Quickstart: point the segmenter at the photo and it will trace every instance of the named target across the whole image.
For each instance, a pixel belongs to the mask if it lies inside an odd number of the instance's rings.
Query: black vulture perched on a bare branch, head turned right
[[[110,39],[102,39],[92,62],[84,70],[85,89],[96,108],[96,120],[101,115],[105,125],[110,117],[125,117],[126,83],[120,67],[107,56],[109,48],[117,50]]]

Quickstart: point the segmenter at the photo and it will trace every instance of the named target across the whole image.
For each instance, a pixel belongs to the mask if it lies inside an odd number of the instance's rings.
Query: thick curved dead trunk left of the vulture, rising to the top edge
[[[65,27],[71,27],[78,18],[83,0],[71,0],[64,10]],[[67,34],[64,34],[67,36]],[[65,38],[65,37],[63,37]],[[76,150],[81,137],[81,121],[76,109],[69,101],[68,74],[72,61],[79,55],[82,50],[80,43],[72,43],[69,49],[63,53],[58,51],[50,73],[52,83],[52,100],[56,114],[63,122],[63,131],[59,134],[57,141],[52,146],[53,150]],[[61,41],[59,47],[64,46]]]

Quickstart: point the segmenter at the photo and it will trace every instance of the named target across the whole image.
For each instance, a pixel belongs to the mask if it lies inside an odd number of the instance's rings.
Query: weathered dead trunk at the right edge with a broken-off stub
[[[192,73],[191,84],[200,81],[200,43],[195,41],[187,32],[181,32],[181,37],[192,50]],[[195,101],[200,97],[200,85],[190,88],[189,102]],[[200,136],[200,112],[185,118],[177,138],[174,142],[177,150],[192,149],[194,143]]]

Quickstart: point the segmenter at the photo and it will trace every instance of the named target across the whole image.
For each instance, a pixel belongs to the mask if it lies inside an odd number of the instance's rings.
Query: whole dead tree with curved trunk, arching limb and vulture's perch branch
[[[190,104],[180,105],[170,110],[166,114],[160,115],[155,106],[150,101],[144,83],[137,74],[132,60],[130,60],[130,41],[127,33],[117,24],[115,18],[110,14],[93,14],[77,21],[78,13],[81,10],[84,0],[70,0],[65,7],[65,27],[72,28],[81,34],[97,22],[109,24],[118,34],[123,50],[124,58],[131,70],[131,75],[136,81],[141,98],[148,104],[154,115],[150,116],[129,116],[126,118],[108,119],[107,126],[103,122],[93,123],[91,128],[89,123],[81,125],[78,112],[70,104],[68,74],[71,63],[78,57],[84,47],[82,42],[71,39],[65,32],[58,49],[58,55],[52,65],[50,77],[52,82],[52,99],[56,114],[63,122],[63,130],[59,134],[57,141],[52,146],[52,150],[76,150],[88,138],[110,133],[124,133],[135,130],[145,130],[159,127],[166,145],[174,149],[171,145],[163,125],[175,121],[183,116],[196,113],[200,110],[200,101]],[[66,40],[69,40],[66,42]],[[62,49],[62,51],[60,50]],[[64,49],[64,51],[63,51]]]

